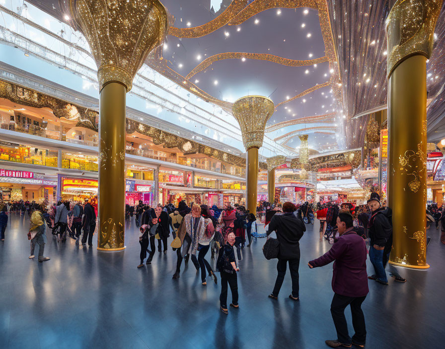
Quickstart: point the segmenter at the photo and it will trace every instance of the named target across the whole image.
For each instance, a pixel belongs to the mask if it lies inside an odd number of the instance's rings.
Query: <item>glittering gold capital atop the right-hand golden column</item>
[[[442,0],[397,0],[386,18],[387,75],[414,54],[430,58]]]

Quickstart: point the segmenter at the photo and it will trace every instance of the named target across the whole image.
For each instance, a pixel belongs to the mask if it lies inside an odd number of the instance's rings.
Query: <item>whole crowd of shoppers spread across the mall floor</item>
[[[75,239],[76,244],[92,246],[92,237],[96,229],[96,207],[86,199],[84,202],[60,201],[50,209],[44,205],[26,205],[25,203],[11,203],[0,205],[0,233],[4,240],[4,233],[8,223],[8,213],[18,211],[21,207],[30,207],[31,217],[28,232],[30,240],[30,256],[35,258],[34,251],[39,245],[38,261],[48,261],[44,256],[46,230],[49,227],[57,242],[65,242],[67,236]],[[168,251],[168,237],[173,234],[171,248],[177,256],[176,271],[173,279],[178,279],[182,261],[192,260],[197,272],[201,276],[203,286],[207,285],[207,278],[211,277],[218,284],[216,272],[220,273],[221,294],[220,309],[228,313],[227,291],[231,290],[232,301],[230,308],[238,309],[237,273],[242,251],[250,247],[252,242],[252,225],[257,221],[259,209],[265,209],[266,235],[270,238],[276,234],[277,240],[277,278],[273,291],[269,297],[278,299],[283,285],[287,266],[292,279],[292,291],[289,298],[299,300],[299,241],[306,231],[304,218],[307,212],[312,212],[312,206],[302,203],[296,206],[286,202],[282,206],[271,205],[257,209],[257,215],[249,213],[243,206],[233,207],[226,204],[223,209],[208,207],[207,205],[192,204],[189,207],[181,201],[178,207],[173,205],[157,205],[150,207],[139,202],[135,207],[126,207],[126,218],[135,216],[135,222],[140,227],[139,243],[141,246],[140,264],[138,268],[151,264],[157,250],[166,254]],[[385,267],[389,260],[392,247],[392,214],[391,210],[380,203],[380,197],[372,193],[367,205],[351,207],[350,205],[317,205],[316,216],[323,221],[321,233],[329,231],[330,250],[308,262],[309,268],[333,264],[331,314],[337,331],[337,339],[326,341],[332,348],[363,348],[366,343],[365,317],[362,303],[369,292],[368,280],[375,280],[382,285],[388,285]],[[339,207],[341,206],[341,207]],[[18,210],[17,210],[18,208]],[[309,210],[310,208],[310,210]],[[315,209],[315,205],[314,205]],[[17,213],[18,213],[17,212]],[[442,219],[442,216],[439,220]],[[83,235],[82,235],[83,231]],[[325,236],[326,237],[326,236]],[[246,240],[248,244],[246,245]],[[369,257],[374,274],[367,275],[367,242],[369,242]],[[235,250],[236,249],[236,252]],[[211,251],[210,259],[216,258],[215,269],[206,259]],[[148,257],[147,257],[148,256]],[[398,282],[406,282],[397,270],[390,265],[390,276]],[[345,308],[350,306],[352,323],[355,334],[350,337],[345,318]]]

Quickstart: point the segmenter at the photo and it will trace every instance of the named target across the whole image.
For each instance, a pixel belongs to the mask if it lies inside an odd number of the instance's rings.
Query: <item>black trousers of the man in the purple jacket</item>
[[[345,318],[345,308],[351,306],[352,326],[355,335],[352,337],[355,343],[365,345],[366,342],[366,326],[365,316],[362,311],[362,303],[366,295],[363,297],[348,297],[334,293],[331,303],[332,320],[334,320],[335,330],[337,331],[337,339],[340,343],[351,344],[351,338],[348,333],[348,324]]]

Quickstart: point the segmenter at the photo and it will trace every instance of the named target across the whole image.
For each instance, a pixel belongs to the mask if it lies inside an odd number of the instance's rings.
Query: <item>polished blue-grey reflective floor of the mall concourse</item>
[[[0,348],[317,349],[336,338],[329,310],[332,266],[307,267],[329,249],[317,227],[308,226],[301,239],[299,302],[288,298],[289,274],[278,301],[267,297],[276,262],[264,258],[264,239],[258,239],[240,262],[240,308],[224,315],[220,285],[209,278],[202,286],[191,262],[172,280],[171,250],[165,256],[156,252],[151,265],[136,268],[134,222],[123,252],[98,252],[96,241],[93,248],[76,247],[73,239],[57,243],[48,233],[45,255],[51,260],[38,263],[28,259],[29,219],[12,215],[9,221],[0,244]],[[406,284],[391,278],[389,286],[369,282],[363,304],[367,348],[444,348],[445,245],[438,231],[429,235],[429,270],[400,270]]]

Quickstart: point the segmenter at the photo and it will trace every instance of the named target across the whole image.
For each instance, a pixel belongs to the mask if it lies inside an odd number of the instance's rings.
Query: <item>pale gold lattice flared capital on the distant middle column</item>
[[[246,150],[263,145],[264,128],[274,111],[274,102],[263,96],[246,96],[233,103],[232,113],[241,128]]]

